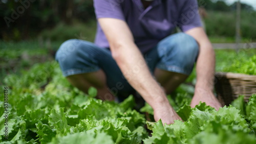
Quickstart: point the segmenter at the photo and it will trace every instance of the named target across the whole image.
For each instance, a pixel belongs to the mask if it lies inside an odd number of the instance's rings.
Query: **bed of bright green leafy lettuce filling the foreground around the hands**
[[[41,74],[41,75],[40,75]],[[61,75],[56,62],[34,65],[21,77],[9,75],[8,139],[4,135],[4,102],[0,101],[0,143],[254,143],[256,94],[245,103],[219,111],[178,93],[170,104],[184,122],[162,125],[148,122],[154,114],[146,104],[134,110],[132,95],[122,103],[96,100],[95,88],[84,94]],[[3,86],[0,87],[3,91]],[[152,130],[152,136],[148,132]]]

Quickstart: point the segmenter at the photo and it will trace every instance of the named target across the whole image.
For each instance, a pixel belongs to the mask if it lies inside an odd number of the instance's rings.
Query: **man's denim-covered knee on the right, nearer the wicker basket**
[[[177,33],[159,42],[160,63],[158,66],[162,69],[189,75],[198,53],[199,46],[192,36]]]

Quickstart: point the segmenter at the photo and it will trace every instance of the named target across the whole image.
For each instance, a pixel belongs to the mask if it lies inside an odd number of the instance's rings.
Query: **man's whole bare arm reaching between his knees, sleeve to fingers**
[[[161,118],[163,123],[170,124],[180,119],[169,105],[163,89],[151,76],[125,21],[115,18],[99,18],[98,21],[110,43],[112,56],[117,65],[127,81],[152,106],[155,120]]]

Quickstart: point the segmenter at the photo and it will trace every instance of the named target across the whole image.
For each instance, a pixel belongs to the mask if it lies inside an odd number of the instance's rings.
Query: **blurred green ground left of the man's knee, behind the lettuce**
[[[0,43],[0,79],[3,80],[6,75],[19,74],[20,71],[29,69],[35,63],[53,60],[54,51],[58,49],[62,42],[40,43],[32,40],[0,41]]]

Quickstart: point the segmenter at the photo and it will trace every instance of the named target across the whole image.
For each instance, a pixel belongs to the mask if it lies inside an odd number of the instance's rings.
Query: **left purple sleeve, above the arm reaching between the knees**
[[[109,17],[125,20],[121,4],[123,0],[93,0],[96,18]]]

